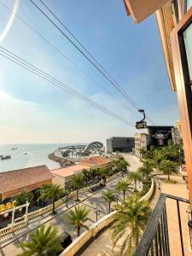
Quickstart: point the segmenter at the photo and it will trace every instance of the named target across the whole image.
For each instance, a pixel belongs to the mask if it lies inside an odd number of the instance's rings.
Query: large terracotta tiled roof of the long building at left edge
[[[47,166],[34,166],[10,172],[0,172],[0,192],[26,188],[29,185],[52,178],[53,175]]]

